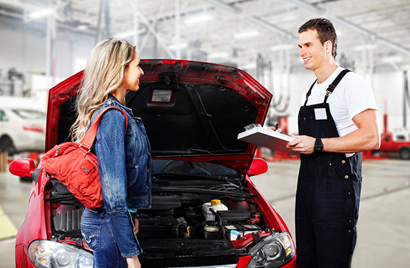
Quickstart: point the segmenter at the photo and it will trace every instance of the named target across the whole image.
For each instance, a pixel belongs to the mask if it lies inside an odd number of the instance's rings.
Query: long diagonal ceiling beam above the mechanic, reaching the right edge
[[[306,9],[308,11],[311,11],[314,14],[323,14],[323,10],[322,9],[318,9],[316,6],[312,6],[311,4],[308,4],[302,0],[286,0],[287,2],[290,2],[296,6],[301,7],[302,9]],[[352,24],[349,21],[345,21],[344,19],[340,19],[337,16],[327,16],[327,18],[330,21],[333,21],[341,26],[343,26],[344,28],[347,28],[351,31],[356,32],[357,34],[361,34],[362,36],[365,36],[367,39],[373,40],[373,41],[377,41],[381,44],[384,44],[385,46],[389,46],[391,49],[395,49],[396,51],[400,51],[401,53],[410,55],[410,49],[407,49],[404,46],[400,46],[398,44],[395,44],[392,41],[389,41],[387,39],[384,39],[381,36],[378,36],[377,34],[371,33],[370,31],[367,31],[365,29],[362,29],[361,27]]]

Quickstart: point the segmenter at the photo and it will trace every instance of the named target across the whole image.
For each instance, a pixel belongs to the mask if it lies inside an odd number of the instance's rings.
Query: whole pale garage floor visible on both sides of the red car
[[[270,162],[252,181],[294,234],[299,161]],[[410,162],[365,160],[353,268],[405,268],[410,263]],[[15,230],[24,222],[31,184],[0,173],[0,268],[14,266]],[[4,212],[3,214],[1,212]]]

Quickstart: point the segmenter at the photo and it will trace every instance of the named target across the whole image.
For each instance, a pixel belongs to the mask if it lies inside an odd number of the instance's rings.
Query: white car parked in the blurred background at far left
[[[0,105],[0,152],[43,152],[46,113],[10,102]]]

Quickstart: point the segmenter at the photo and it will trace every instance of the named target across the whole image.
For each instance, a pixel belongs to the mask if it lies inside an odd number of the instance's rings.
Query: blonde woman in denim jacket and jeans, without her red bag
[[[83,238],[94,252],[93,267],[140,267],[136,209],[151,205],[150,144],[143,122],[133,119],[125,106],[128,90],[138,91],[144,74],[135,48],[127,41],[108,39],[91,51],[77,96],[78,118],[73,140],[78,142],[98,113],[108,109],[98,126],[92,150],[98,159],[103,206],[85,209],[81,218]]]

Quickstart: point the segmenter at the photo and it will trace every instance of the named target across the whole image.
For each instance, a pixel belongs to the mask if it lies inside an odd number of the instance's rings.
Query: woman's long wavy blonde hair
[[[71,126],[73,142],[83,139],[93,113],[123,84],[134,55],[135,47],[121,39],[106,39],[93,48],[77,95],[78,117]]]

